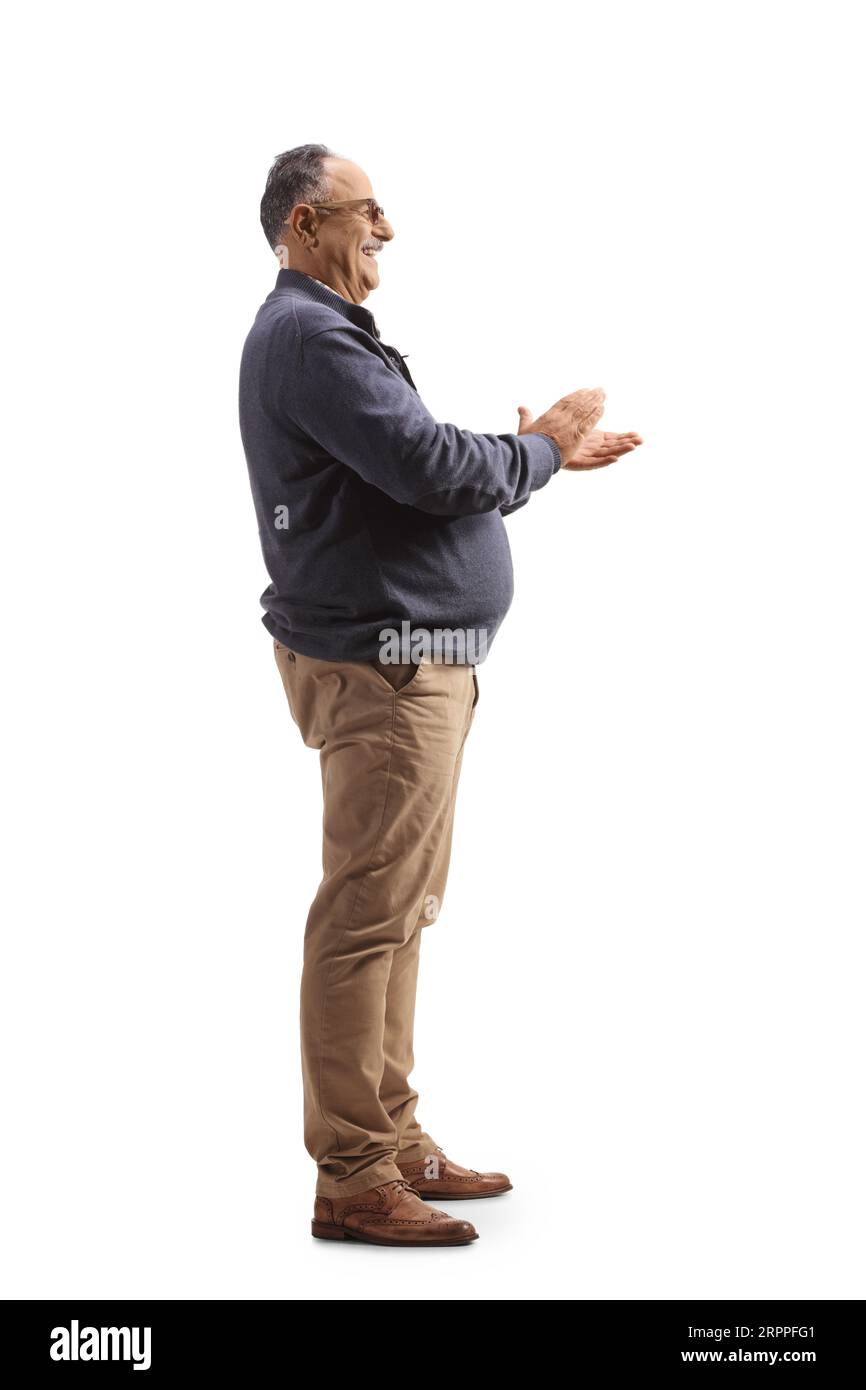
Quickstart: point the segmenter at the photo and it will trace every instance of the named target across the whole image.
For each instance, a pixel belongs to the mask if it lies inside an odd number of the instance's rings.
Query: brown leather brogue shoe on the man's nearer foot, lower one
[[[398,1177],[353,1197],[317,1197],[313,1234],[320,1240],[366,1240],[370,1245],[468,1245],[478,1240],[470,1222],[431,1211]]]

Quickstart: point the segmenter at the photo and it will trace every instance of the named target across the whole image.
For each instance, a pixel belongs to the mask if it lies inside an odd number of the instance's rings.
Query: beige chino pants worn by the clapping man
[[[324,662],[274,642],[292,719],[320,749],[322,880],[304,933],[304,1144],[317,1193],[400,1177],[436,1145],[416,1120],[421,931],[445,895],[473,666]]]

